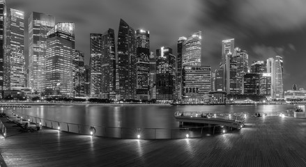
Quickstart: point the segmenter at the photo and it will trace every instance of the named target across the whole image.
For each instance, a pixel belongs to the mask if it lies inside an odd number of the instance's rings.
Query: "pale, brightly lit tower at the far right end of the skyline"
[[[284,84],[283,84],[283,61],[281,56],[275,56],[275,58],[268,58],[267,60],[267,72],[272,74],[271,77],[271,97],[273,99],[283,98]]]

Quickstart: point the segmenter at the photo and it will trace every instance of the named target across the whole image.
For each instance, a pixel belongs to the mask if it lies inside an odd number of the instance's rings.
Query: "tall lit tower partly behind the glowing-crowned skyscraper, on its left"
[[[45,92],[47,33],[55,18],[44,13],[31,13],[29,20],[29,84],[36,93]]]

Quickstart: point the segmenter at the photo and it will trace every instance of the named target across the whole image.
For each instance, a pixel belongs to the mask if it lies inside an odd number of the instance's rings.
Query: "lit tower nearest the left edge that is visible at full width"
[[[24,12],[8,8],[6,19],[6,88],[24,87]]]

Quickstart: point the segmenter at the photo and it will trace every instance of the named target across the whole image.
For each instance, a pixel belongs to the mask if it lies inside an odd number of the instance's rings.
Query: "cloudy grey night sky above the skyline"
[[[84,51],[86,63],[89,34],[112,28],[117,37],[122,18],[135,30],[150,31],[151,51],[164,46],[176,54],[179,37],[202,31],[201,63],[212,70],[219,67],[222,40],[235,38],[249,64],[284,58],[284,90],[293,84],[306,88],[305,0],[6,0],[6,5],[23,10],[26,20],[35,11],[56,22],[75,22],[76,49]]]

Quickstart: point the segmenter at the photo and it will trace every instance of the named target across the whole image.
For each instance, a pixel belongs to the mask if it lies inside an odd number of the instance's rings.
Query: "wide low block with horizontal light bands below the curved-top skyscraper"
[[[211,92],[210,66],[184,66],[182,72],[183,101],[199,104],[207,100]]]

